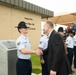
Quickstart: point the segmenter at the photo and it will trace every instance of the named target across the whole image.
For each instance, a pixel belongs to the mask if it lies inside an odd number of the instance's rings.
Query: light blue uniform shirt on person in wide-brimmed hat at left
[[[31,55],[30,54],[22,54],[20,52],[21,49],[26,48],[30,50],[30,42],[28,37],[25,37],[24,35],[20,35],[20,37],[16,41],[16,46],[17,46],[17,56],[20,59],[30,59]]]

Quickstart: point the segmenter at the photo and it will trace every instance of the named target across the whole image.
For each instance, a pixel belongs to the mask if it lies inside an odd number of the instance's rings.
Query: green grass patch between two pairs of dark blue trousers
[[[40,57],[32,54],[31,61],[32,61],[32,72],[35,74],[41,73]]]

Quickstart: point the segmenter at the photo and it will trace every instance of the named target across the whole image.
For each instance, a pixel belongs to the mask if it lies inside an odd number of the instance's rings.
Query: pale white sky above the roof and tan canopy
[[[75,12],[76,0],[25,0],[35,5],[54,11],[54,14]]]

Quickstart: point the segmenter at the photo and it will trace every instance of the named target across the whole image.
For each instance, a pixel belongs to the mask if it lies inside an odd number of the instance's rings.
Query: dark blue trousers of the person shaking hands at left
[[[30,60],[18,59],[16,64],[17,75],[31,75],[32,65]]]

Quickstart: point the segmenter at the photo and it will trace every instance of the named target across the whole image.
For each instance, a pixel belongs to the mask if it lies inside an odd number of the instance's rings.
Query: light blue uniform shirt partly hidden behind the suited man
[[[39,48],[42,48],[43,50],[48,47],[48,38],[46,35],[40,38],[39,41]]]

